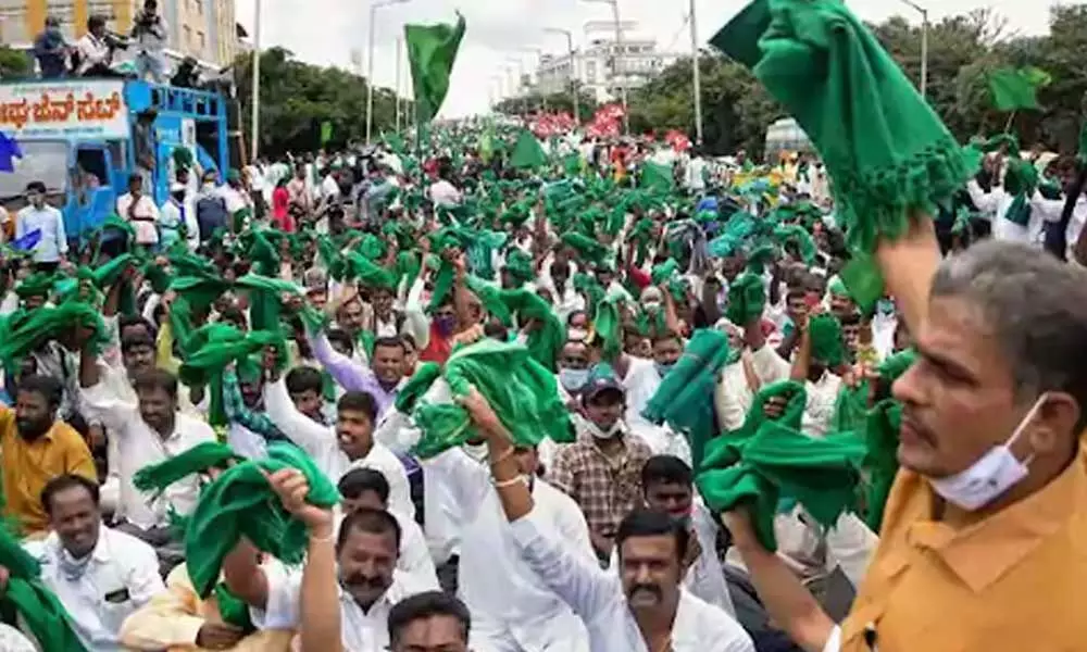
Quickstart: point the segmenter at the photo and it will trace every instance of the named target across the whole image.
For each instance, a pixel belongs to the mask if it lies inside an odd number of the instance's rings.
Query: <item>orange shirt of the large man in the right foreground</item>
[[[842,652],[1071,652],[1087,647],[1087,444],[1048,487],[955,530],[899,473]],[[875,647],[865,638],[874,629]]]

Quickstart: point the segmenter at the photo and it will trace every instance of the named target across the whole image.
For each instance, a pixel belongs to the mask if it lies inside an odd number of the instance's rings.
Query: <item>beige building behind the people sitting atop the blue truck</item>
[[[0,0],[0,42],[29,49],[45,26],[57,16],[73,43],[87,32],[87,18],[102,14],[109,28],[127,35],[143,0]],[[238,54],[238,26],[234,0],[159,0],[159,13],[168,28],[166,55],[175,62],[192,57],[204,68],[229,65]]]

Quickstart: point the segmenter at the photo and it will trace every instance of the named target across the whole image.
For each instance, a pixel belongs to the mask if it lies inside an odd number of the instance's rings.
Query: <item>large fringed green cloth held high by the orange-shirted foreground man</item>
[[[711,43],[751,68],[811,138],[851,250],[901,236],[912,210],[970,176],[939,117],[839,0],[755,0]]]

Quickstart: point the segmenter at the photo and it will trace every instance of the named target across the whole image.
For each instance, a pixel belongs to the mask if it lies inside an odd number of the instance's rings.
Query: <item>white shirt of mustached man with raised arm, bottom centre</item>
[[[528,566],[585,622],[592,652],[651,652],[620,578],[567,550],[537,518],[534,509],[514,522],[514,540]],[[680,589],[672,652],[754,652],[754,643],[728,614]]]

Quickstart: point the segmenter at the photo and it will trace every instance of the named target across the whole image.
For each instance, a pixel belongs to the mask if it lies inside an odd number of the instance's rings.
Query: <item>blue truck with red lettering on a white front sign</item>
[[[175,150],[187,149],[199,171],[228,167],[227,101],[124,79],[0,83],[0,131],[23,153],[13,173],[0,174],[0,202],[14,214],[26,185],[43,181],[70,240],[115,212],[133,174],[161,204],[175,179]]]

